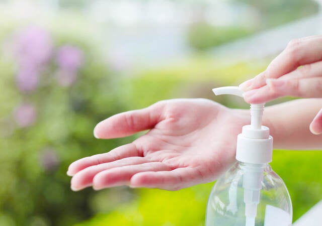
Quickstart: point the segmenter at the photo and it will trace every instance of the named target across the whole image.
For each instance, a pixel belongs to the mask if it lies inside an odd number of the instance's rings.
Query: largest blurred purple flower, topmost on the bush
[[[48,31],[39,27],[27,27],[15,38],[15,55],[21,67],[39,66],[46,63],[52,55],[52,40]]]

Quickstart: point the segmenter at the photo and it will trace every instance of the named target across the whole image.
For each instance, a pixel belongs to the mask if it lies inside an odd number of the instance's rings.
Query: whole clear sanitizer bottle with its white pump
[[[243,97],[239,87],[214,88],[215,95]],[[264,104],[251,104],[251,125],[237,136],[236,164],[214,185],[206,226],[290,226],[292,203],[283,180],[268,164],[273,138],[262,126]]]

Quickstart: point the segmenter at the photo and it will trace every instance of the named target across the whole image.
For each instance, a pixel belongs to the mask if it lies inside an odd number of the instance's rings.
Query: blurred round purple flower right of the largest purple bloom
[[[83,51],[71,45],[65,45],[58,49],[56,62],[60,69],[69,72],[77,72],[84,61]]]

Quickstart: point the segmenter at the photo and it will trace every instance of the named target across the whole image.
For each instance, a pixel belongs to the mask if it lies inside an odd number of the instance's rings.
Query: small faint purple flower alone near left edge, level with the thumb
[[[14,111],[14,119],[20,128],[29,127],[36,121],[37,112],[31,103],[23,103]]]

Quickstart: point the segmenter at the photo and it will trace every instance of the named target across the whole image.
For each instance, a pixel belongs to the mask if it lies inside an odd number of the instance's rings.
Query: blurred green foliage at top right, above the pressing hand
[[[317,13],[315,1],[302,0],[232,0],[253,7],[258,18],[252,24],[235,26],[215,26],[201,20],[190,26],[188,41],[196,50],[207,50],[223,43],[234,41],[255,34],[256,32],[276,27]]]

